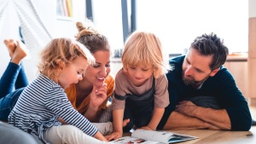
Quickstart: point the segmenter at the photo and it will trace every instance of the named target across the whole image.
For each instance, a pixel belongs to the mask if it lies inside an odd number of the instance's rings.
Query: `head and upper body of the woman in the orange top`
[[[99,122],[99,116],[107,108],[108,98],[113,94],[114,80],[110,72],[110,47],[107,37],[86,28],[81,22],[77,22],[79,33],[76,38],[83,43],[96,58],[94,66],[88,66],[83,80],[78,84],[72,84],[66,90],[68,100],[72,102],[84,117],[90,122]],[[104,91],[102,95],[90,95]],[[107,119],[108,120],[108,119]],[[105,121],[108,122],[108,121]]]

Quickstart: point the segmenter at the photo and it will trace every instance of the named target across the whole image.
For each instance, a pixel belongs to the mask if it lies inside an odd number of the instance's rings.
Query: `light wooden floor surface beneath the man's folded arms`
[[[249,131],[226,130],[168,130],[183,135],[193,135],[198,139],[177,142],[178,144],[256,144],[256,126]],[[127,134],[126,134],[127,135]]]

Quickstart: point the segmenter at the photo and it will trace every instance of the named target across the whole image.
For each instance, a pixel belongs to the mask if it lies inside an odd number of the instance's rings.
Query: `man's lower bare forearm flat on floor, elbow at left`
[[[199,118],[186,116],[179,112],[172,112],[163,130],[220,130],[218,127],[202,121]]]

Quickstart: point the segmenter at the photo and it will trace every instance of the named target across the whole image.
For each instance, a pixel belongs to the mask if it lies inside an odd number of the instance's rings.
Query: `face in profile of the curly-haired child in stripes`
[[[67,89],[70,84],[77,84],[83,79],[84,72],[88,66],[87,60],[84,57],[78,57],[72,63],[60,68],[58,84],[63,89]]]

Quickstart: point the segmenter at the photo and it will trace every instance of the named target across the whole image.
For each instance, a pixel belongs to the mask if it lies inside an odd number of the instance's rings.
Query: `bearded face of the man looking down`
[[[213,77],[216,72],[210,69],[211,62],[212,55],[200,55],[196,49],[190,48],[183,61],[183,83],[198,86],[208,77]]]

